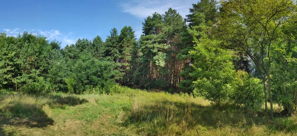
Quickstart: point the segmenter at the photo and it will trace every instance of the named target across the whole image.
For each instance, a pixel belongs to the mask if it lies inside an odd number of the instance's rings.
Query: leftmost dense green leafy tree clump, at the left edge
[[[24,86],[34,92],[41,91],[33,82],[43,84],[40,86],[47,84],[44,78],[49,71],[51,46],[46,38],[24,32],[17,38],[1,35],[0,39],[1,87],[19,90]]]

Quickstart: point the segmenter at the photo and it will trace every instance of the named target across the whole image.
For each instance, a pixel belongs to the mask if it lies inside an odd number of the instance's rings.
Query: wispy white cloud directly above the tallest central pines
[[[121,3],[123,12],[144,19],[154,12],[164,14],[168,8],[176,9],[184,18],[189,14],[189,8],[198,0],[132,0]]]

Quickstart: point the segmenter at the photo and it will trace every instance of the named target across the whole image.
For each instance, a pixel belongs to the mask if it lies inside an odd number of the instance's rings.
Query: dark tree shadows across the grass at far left
[[[54,121],[49,118],[44,111],[46,104],[51,108],[64,108],[66,105],[75,106],[88,102],[86,99],[75,96],[63,97],[61,95],[48,95],[42,97],[48,98],[49,101],[43,104],[26,101],[10,101],[0,109],[0,136],[12,136],[14,133],[17,133],[16,131],[5,131],[5,126],[45,128],[53,125]]]

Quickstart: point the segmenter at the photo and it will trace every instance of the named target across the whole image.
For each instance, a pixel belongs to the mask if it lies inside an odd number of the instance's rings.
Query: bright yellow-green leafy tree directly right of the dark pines
[[[206,33],[208,27],[202,27],[204,31],[198,33],[200,40],[196,39],[197,45],[190,54],[194,57],[195,71],[192,76],[197,78],[193,82],[194,95],[203,96],[211,100],[217,106],[226,101],[228,93],[232,89],[231,83],[235,76],[234,66],[231,62],[232,52],[219,48],[220,42],[209,39]]]

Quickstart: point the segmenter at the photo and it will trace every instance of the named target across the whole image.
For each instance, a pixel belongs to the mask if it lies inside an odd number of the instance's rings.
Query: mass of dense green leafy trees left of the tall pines
[[[110,91],[123,76],[116,69],[118,64],[100,58],[103,42],[99,37],[94,43],[79,39],[61,50],[59,42],[49,43],[27,32],[17,38],[1,34],[0,41],[0,89],[83,93],[98,87]]]

